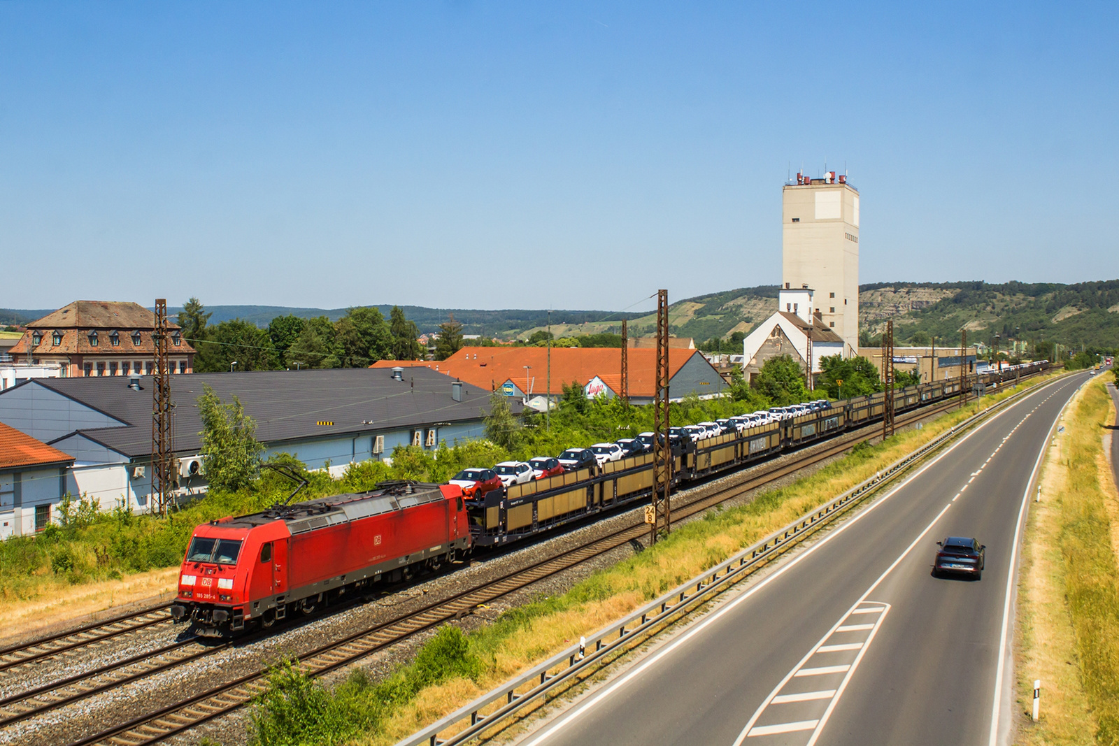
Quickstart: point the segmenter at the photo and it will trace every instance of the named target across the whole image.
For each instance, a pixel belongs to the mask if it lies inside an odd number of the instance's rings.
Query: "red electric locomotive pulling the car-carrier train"
[[[470,549],[462,490],[393,482],[223,518],[195,529],[179,573],[176,620],[219,636],[460,559]]]

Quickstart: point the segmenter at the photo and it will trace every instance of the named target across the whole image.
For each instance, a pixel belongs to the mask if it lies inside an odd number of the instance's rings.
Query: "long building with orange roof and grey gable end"
[[[632,404],[649,404],[655,393],[655,349],[628,350],[629,398]],[[611,347],[463,347],[446,360],[392,362],[374,367],[410,365],[453,376],[479,388],[519,398],[543,412],[548,402],[563,397],[564,386],[576,383],[590,396],[613,398],[621,394],[620,348]],[[720,396],[727,384],[718,371],[695,349],[668,350],[668,396],[678,402],[695,394],[703,398]]]

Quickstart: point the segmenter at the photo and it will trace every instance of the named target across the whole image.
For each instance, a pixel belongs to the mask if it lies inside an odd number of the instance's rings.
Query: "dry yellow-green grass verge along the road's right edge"
[[[1100,378],[1076,395],[1031,509],[1018,585],[1018,743],[1119,743],[1119,568],[1101,443],[1112,410]]]

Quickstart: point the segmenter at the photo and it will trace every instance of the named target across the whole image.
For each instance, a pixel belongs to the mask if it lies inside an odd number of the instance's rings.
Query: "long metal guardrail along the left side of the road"
[[[929,455],[956,437],[961,431],[971,427],[979,419],[986,417],[994,409],[1002,408],[1028,390],[1019,391],[991,407],[977,412],[947,433],[930,441],[913,453],[899,459],[871,479],[861,482],[839,497],[805,513],[796,521],[778,529],[764,539],[746,547],[715,567],[705,570],[702,575],[678,586],[674,591],[649,602],[621,621],[599,630],[589,638],[581,639],[577,645],[572,645],[563,652],[556,653],[543,663],[538,663],[516,678],[491,689],[489,692],[433,723],[423,730],[398,742],[396,746],[421,746],[422,744],[451,746],[452,744],[462,744],[479,735],[487,728],[492,727],[493,724],[514,715],[530,701],[540,698],[558,684],[576,677],[595,661],[642,636],[642,633],[649,632],[658,625],[675,621],[674,617],[683,615],[685,612],[709,601],[715,592],[721,592],[751,575],[754,570],[780,556],[790,547],[799,544],[809,533],[833,522],[838,516],[846,513],[877,488],[893,480],[902,471],[913,465],[915,461]],[[524,689],[524,691],[518,691],[520,689]],[[492,712],[482,714],[483,709],[502,700],[504,705],[501,707]],[[445,740],[440,739],[439,734],[460,726],[466,720],[469,720],[469,724],[464,728],[455,731]]]

